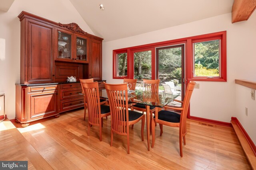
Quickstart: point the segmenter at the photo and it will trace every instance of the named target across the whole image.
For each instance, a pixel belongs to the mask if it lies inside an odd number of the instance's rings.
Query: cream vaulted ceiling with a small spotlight
[[[70,0],[70,2],[95,35],[104,38],[104,41],[111,41],[230,13],[234,0]],[[100,4],[104,5],[104,10],[100,10]]]

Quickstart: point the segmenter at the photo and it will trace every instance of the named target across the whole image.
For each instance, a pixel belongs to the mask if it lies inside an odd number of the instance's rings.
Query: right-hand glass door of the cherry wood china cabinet
[[[76,37],[76,61],[87,61],[87,39]]]

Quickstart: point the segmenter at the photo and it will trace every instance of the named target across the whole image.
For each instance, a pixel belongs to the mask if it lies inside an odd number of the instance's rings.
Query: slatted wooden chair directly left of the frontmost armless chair
[[[98,82],[83,83],[83,89],[88,107],[88,136],[91,125],[100,127],[100,141],[102,141],[102,118],[110,115],[110,107],[100,104]]]

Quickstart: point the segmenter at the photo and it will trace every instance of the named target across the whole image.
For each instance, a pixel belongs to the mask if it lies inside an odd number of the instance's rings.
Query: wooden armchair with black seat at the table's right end
[[[160,125],[160,136],[162,136],[163,133],[163,125],[171,126],[171,127],[179,127],[179,140],[180,140],[180,156],[183,156],[182,153],[182,137],[183,137],[183,143],[186,145],[186,139],[185,135],[187,133],[186,128],[186,119],[188,114],[188,106],[190,102],[190,98],[192,95],[192,92],[194,90],[195,82],[188,83],[188,87],[185,93],[184,101],[175,100],[177,102],[182,103],[182,107],[169,107],[165,106],[165,108],[168,109],[174,109],[176,111],[181,111],[181,113],[175,113],[173,111],[168,110],[161,110],[156,111],[155,116],[152,119],[152,148],[154,147],[155,143],[155,123],[159,123]]]

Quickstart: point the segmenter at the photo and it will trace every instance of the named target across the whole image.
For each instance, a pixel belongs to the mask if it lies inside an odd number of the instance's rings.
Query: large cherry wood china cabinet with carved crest
[[[29,122],[84,106],[79,80],[102,81],[102,38],[76,24],[62,24],[22,11],[20,84],[16,84],[16,120]],[[77,82],[67,82],[75,76]],[[103,86],[102,86],[103,85]]]

